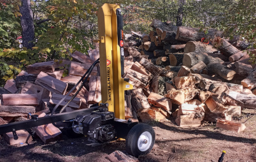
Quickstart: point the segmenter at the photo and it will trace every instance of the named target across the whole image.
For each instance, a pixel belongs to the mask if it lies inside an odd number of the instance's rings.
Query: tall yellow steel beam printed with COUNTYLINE
[[[124,119],[124,91],[133,89],[133,85],[121,77],[120,47],[117,37],[116,4],[105,3],[98,11],[98,32],[100,52],[100,82],[102,85],[102,103],[108,103],[109,111],[115,117]],[[107,65],[107,62],[109,65]]]

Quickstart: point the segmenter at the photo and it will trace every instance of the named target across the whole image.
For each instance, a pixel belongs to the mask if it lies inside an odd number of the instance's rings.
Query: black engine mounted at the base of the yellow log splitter
[[[114,112],[102,109],[76,116],[73,130],[88,136],[91,140],[107,142],[115,138],[113,122]]]

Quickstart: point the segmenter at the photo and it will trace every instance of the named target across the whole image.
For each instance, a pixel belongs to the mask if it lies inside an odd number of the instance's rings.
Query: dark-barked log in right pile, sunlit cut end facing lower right
[[[220,63],[209,63],[207,65],[207,71],[218,73],[218,75],[226,80],[231,80],[233,78],[232,76],[236,73],[234,70],[230,70],[228,67],[221,65]]]

